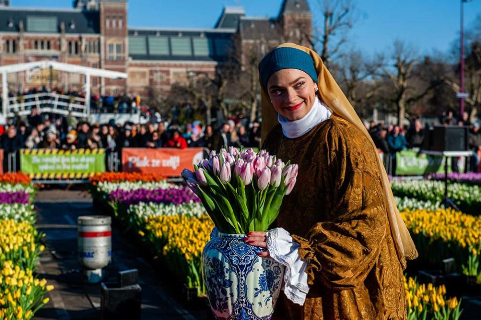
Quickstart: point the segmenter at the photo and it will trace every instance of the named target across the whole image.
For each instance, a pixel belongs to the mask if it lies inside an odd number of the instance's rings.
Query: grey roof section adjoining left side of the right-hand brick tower
[[[274,18],[242,17],[239,32],[243,40],[278,40],[282,37],[281,27]]]

